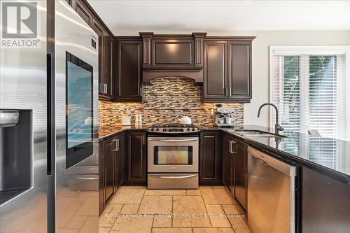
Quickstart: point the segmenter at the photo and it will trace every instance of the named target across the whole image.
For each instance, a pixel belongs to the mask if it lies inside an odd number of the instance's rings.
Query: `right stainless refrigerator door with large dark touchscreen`
[[[98,232],[98,36],[55,3],[56,232]]]

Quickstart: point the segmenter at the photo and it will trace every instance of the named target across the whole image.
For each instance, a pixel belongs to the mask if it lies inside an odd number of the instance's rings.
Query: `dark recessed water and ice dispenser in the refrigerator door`
[[[0,109],[0,206],[33,187],[32,111]]]

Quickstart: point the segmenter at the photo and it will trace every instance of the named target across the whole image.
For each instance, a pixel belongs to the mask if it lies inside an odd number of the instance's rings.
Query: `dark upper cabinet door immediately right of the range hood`
[[[227,61],[227,41],[204,41],[204,100],[228,99]]]

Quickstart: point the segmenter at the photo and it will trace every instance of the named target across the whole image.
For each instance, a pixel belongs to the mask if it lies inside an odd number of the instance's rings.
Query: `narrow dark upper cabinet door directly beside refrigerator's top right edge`
[[[99,36],[99,95],[104,95],[104,29],[97,20],[92,20],[92,30]]]

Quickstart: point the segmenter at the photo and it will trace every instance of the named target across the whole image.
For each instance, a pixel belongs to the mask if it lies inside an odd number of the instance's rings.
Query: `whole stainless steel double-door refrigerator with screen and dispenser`
[[[98,36],[64,0],[0,3],[0,232],[98,232]]]

